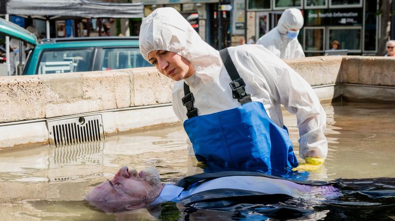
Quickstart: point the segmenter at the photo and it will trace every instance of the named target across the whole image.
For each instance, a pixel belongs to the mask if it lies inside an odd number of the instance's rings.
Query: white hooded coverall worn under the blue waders
[[[219,52],[204,42],[175,9],[159,8],[144,18],[139,41],[140,52],[147,61],[151,51],[166,50],[181,55],[193,65],[194,74],[175,82],[173,88],[173,109],[181,122],[187,120],[187,111],[181,101],[184,81],[193,93],[193,105],[199,116],[240,106],[232,96],[229,87],[232,80]],[[311,86],[260,45],[230,47],[228,52],[246,83],[246,92],[251,94],[252,101],[264,104],[275,124],[283,126],[280,104],[297,116],[301,158],[325,159],[327,141],[323,131],[326,115]]]

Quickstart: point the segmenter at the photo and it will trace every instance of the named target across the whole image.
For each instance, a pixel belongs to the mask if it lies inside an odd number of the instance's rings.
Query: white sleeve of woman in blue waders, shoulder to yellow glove
[[[326,114],[310,84],[265,48],[251,48],[243,54],[240,57],[240,60],[243,60],[240,68],[246,72],[260,72],[266,82],[261,87],[266,88],[276,102],[283,104],[285,109],[296,115],[300,135],[300,157],[325,159]]]

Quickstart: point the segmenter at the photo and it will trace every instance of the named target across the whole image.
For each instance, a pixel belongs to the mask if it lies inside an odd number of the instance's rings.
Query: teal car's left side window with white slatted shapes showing
[[[90,71],[92,55],[93,48],[44,51],[37,73],[41,75],[44,73]]]

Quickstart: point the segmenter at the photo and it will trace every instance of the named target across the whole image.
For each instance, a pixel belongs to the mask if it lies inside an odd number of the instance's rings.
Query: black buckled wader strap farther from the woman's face
[[[239,72],[237,72],[235,64],[233,63],[231,56],[229,56],[227,48],[219,51],[219,55],[221,56],[222,62],[225,65],[226,71],[229,73],[229,76],[232,79],[232,82],[229,83],[229,85],[232,88],[233,98],[237,98],[241,104],[252,101],[251,95],[246,93],[244,88],[246,84],[244,83],[243,79],[240,78]]]

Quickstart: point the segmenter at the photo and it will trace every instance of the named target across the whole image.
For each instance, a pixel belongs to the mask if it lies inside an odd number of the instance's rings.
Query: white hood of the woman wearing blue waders
[[[191,62],[195,74],[218,79],[222,66],[219,52],[204,42],[174,8],[156,9],[143,19],[139,45],[147,61],[151,51],[171,51]]]

